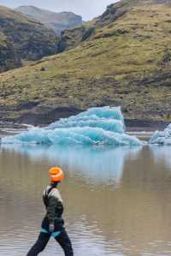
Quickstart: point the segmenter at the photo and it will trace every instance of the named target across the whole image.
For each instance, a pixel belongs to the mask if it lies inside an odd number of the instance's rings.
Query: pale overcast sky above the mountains
[[[82,15],[84,21],[102,15],[107,5],[117,0],[0,0],[0,5],[11,8],[20,5],[34,5],[42,9],[50,9],[56,12],[73,11]]]

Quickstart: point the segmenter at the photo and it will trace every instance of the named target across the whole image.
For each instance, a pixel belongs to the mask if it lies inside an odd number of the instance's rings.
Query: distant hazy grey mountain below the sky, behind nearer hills
[[[42,22],[46,27],[53,29],[58,36],[64,29],[82,24],[82,17],[72,12],[55,13],[34,6],[20,6],[15,11]]]

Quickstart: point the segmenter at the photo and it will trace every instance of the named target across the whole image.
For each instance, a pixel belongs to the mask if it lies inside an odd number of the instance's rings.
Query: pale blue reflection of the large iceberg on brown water
[[[125,159],[136,158],[138,147],[91,146],[2,146],[3,150],[19,152],[33,161],[46,159],[52,165],[84,176],[94,182],[119,183]]]

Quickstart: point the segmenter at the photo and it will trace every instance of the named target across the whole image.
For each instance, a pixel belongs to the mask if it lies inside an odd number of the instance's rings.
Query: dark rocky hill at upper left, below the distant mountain
[[[56,53],[56,34],[38,21],[0,6],[0,71]]]

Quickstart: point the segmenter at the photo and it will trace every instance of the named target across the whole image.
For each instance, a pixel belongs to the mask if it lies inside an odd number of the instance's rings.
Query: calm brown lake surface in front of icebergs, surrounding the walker
[[[47,170],[61,165],[75,256],[171,255],[171,147],[0,149],[0,255],[24,256],[44,217]],[[51,240],[41,255],[63,255]]]

